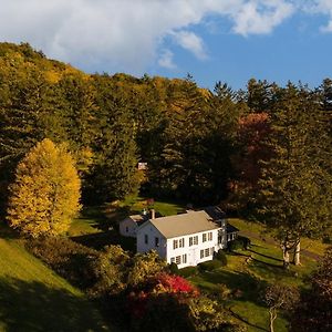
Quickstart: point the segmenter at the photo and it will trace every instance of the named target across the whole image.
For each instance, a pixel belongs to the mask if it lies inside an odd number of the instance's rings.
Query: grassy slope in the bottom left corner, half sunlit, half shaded
[[[107,331],[82,292],[0,232],[0,331]]]

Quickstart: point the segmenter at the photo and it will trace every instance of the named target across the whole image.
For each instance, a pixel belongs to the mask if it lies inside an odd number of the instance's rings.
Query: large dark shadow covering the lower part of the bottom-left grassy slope
[[[8,332],[108,331],[87,300],[38,281],[0,278],[0,330]]]

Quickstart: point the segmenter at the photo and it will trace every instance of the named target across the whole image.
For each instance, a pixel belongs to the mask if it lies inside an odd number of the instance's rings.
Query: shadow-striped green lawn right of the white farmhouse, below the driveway
[[[220,294],[220,284],[226,284],[231,291],[226,307],[247,325],[248,331],[269,331],[268,309],[261,300],[264,286],[282,282],[303,288],[304,278],[317,266],[314,260],[302,257],[302,266],[291,266],[289,271],[284,271],[281,250],[259,240],[252,240],[249,250],[237,250],[227,255],[227,267],[199,272],[189,280],[214,294]],[[276,331],[288,331],[287,320],[282,314],[276,321]]]

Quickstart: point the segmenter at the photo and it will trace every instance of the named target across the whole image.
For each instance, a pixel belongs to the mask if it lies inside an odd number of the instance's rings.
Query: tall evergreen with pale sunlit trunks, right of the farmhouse
[[[331,229],[331,142],[324,113],[304,86],[287,86],[270,125],[272,157],[262,162],[258,211],[280,240],[288,267],[294,248],[300,263],[301,237]]]

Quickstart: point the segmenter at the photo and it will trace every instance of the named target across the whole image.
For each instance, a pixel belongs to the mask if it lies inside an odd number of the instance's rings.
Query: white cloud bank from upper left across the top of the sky
[[[317,10],[330,10],[332,18],[331,0],[310,2]],[[154,62],[174,68],[173,53],[164,44],[169,37],[196,58],[206,59],[207,46],[191,28],[207,18],[228,20],[231,32],[241,35],[270,33],[299,3],[301,0],[0,0],[0,40],[30,42],[49,56],[92,71],[139,74]]]

